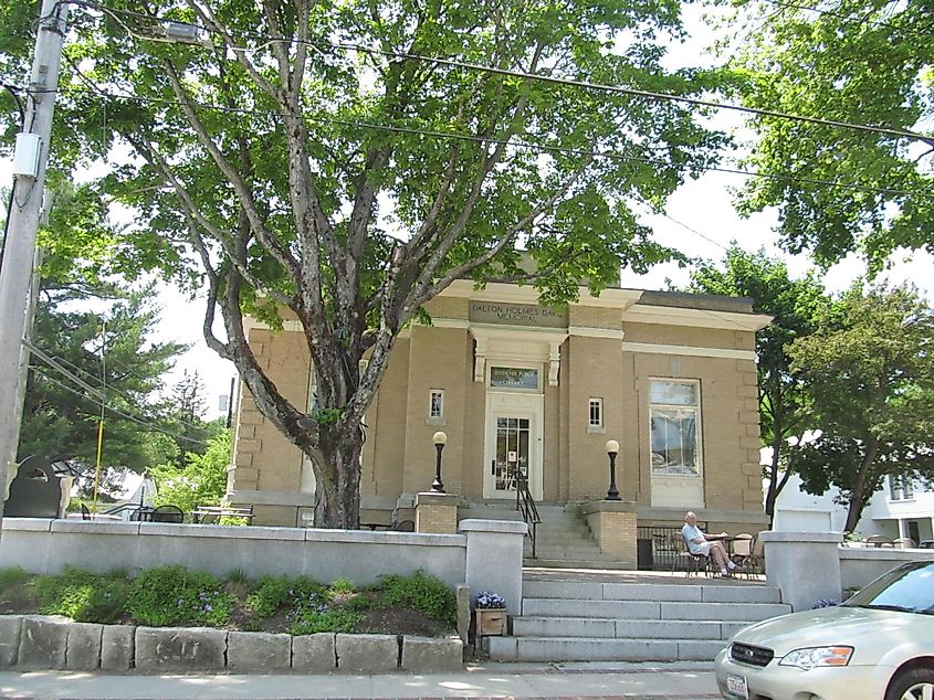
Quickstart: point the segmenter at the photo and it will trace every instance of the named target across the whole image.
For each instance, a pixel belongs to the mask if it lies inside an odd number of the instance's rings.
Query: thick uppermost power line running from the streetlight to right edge
[[[127,15],[127,17],[143,18],[147,21],[162,21],[162,22],[171,21],[174,24],[190,26],[190,28],[197,29],[198,31],[202,31],[202,32],[206,32],[206,33],[211,33],[211,34],[218,33],[216,30],[202,26],[202,25],[193,23],[193,22],[180,22],[180,21],[176,21],[176,20],[160,20],[159,18],[155,18],[155,17],[147,15],[147,14],[141,14],[139,12],[133,12],[133,11],[129,11],[129,10],[114,10],[114,9],[106,8],[104,6],[101,6],[101,4],[97,4],[97,3],[94,3],[94,2],[83,2],[83,1],[78,1],[78,0],[63,0],[63,2],[65,2],[65,1],[71,2],[73,4],[80,4],[80,6],[83,6],[83,7],[88,7],[88,8],[99,10],[102,12],[106,12],[111,17],[115,18],[117,20],[117,22],[119,22],[120,25],[130,35],[135,36],[136,39],[144,40],[144,41],[162,41],[162,40],[161,40],[161,38],[145,36],[145,35],[140,35],[140,34],[134,32],[132,28],[127,26],[116,15],[117,14],[124,14],[124,15]],[[667,93],[657,93],[657,92],[653,92],[653,91],[643,91],[643,89],[637,89],[637,88],[632,88],[632,87],[620,87],[620,86],[607,85],[607,84],[602,84],[602,83],[590,83],[588,81],[577,81],[577,79],[573,79],[573,78],[555,77],[555,76],[543,75],[543,74],[538,74],[538,73],[526,73],[524,71],[513,71],[513,70],[508,70],[508,68],[499,68],[499,67],[495,67],[495,66],[487,66],[487,65],[482,65],[482,64],[478,64],[478,63],[468,63],[468,62],[464,62],[464,61],[454,61],[452,59],[441,59],[441,57],[428,56],[428,55],[424,55],[424,54],[414,54],[414,53],[408,53],[408,52],[401,52],[401,51],[390,51],[388,49],[374,49],[374,47],[364,46],[364,45],[360,45],[360,44],[330,42],[330,41],[326,41],[326,40],[311,41],[311,40],[301,40],[301,39],[296,39],[296,38],[286,38],[286,36],[267,36],[267,35],[262,35],[262,34],[245,34],[245,36],[249,38],[249,39],[256,40],[256,41],[265,40],[266,43],[279,42],[279,43],[287,43],[287,44],[304,44],[304,45],[308,45],[308,46],[311,46],[311,47],[313,47],[317,51],[321,51],[319,47],[318,47],[319,45],[324,45],[324,46],[328,46],[330,49],[337,49],[337,50],[342,50],[342,51],[355,51],[355,52],[358,52],[358,53],[366,53],[366,54],[370,54],[370,55],[380,55],[380,56],[390,57],[390,59],[421,61],[421,62],[426,62],[426,63],[432,63],[434,65],[443,65],[443,66],[447,66],[447,67],[461,68],[461,70],[474,71],[474,72],[481,72],[481,73],[489,73],[489,74],[492,74],[492,75],[501,75],[501,76],[505,76],[505,77],[516,77],[516,78],[522,78],[522,79],[527,79],[527,81],[536,81],[536,82],[548,83],[548,84],[566,86],[566,87],[577,87],[577,88],[584,88],[584,89],[588,89],[588,91],[597,91],[597,92],[619,94],[619,95],[629,95],[629,96],[633,96],[633,97],[644,97],[644,98],[654,99],[654,100],[684,103],[684,104],[690,104],[690,105],[695,105],[695,106],[701,106],[701,107],[712,107],[712,108],[715,108],[715,109],[726,109],[726,110],[733,110],[733,112],[741,112],[741,113],[745,113],[745,114],[754,114],[754,115],[763,116],[763,117],[790,119],[790,120],[796,120],[796,121],[804,121],[804,123],[807,123],[807,124],[829,126],[829,127],[833,127],[833,128],[844,128],[844,129],[852,129],[852,130],[865,131],[865,132],[871,132],[871,134],[879,134],[879,135],[882,135],[882,136],[891,136],[891,137],[895,137],[895,138],[906,138],[906,139],[921,140],[921,141],[926,141],[926,142],[931,141],[931,139],[932,139],[931,136],[925,136],[924,134],[919,134],[919,132],[915,132],[915,131],[906,131],[906,130],[902,130],[902,129],[890,129],[890,128],[885,128],[885,127],[877,127],[877,126],[870,126],[870,125],[864,125],[864,124],[853,124],[853,123],[849,123],[849,121],[838,121],[836,119],[822,119],[820,117],[808,117],[808,116],[802,116],[802,115],[793,115],[793,114],[789,114],[789,113],[777,112],[777,110],[774,110],[774,109],[759,109],[759,108],[756,108],[756,107],[746,107],[746,106],[743,106],[743,105],[718,103],[718,102],[713,102],[713,100],[709,100],[709,99],[701,99],[701,98],[697,98],[697,97],[688,97],[688,96],[682,96],[682,95],[671,95],[671,94],[667,94]],[[259,50],[259,49],[249,49],[249,47],[244,47],[244,46],[230,46],[230,47],[233,51],[241,51],[241,52],[254,52],[254,51]]]

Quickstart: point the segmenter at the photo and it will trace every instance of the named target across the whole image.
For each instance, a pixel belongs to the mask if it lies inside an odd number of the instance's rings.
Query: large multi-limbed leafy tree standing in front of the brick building
[[[114,259],[203,286],[208,344],[312,462],[316,524],[358,526],[360,420],[427,301],[505,278],[560,304],[668,257],[633,202],[660,205],[723,141],[683,103],[570,83],[714,86],[660,63],[676,0],[107,7],[74,15],[67,153],[130,151],[99,183],[137,212]],[[208,45],[166,43],[167,19]],[[244,314],[283,312],[316,368],[311,414],[246,342]]]

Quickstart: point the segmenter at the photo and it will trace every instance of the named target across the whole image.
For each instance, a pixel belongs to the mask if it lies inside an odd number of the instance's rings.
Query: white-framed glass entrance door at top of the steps
[[[541,397],[491,397],[486,423],[484,498],[516,497],[518,476],[528,480],[532,497],[542,499]],[[505,406],[504,403],[528,403]]]

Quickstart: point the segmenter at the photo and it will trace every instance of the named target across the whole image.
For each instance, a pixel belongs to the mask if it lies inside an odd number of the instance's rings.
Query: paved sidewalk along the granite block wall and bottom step
[[[0,698],[720,698],[711,664],[485,664],[417,676],[102,676],[72,671],[0,672]]]

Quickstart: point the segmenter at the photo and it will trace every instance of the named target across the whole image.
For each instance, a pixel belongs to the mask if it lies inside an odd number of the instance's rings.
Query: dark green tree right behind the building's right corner
[[[689,291],[749,297],[753,310],[772,322],[756,333],[759,423],[763,445],[772,449],[764,466],[768,482],[765,512],[775,518],[775,501],[795,473],[795,457],[810,428],[808,394],[791,372],[788,346],[814,332],[830,299],[814,273],[793,279],[783,261],[765,251],[748,253],[732,245],[720,264],[704,264],[691,274]]]

